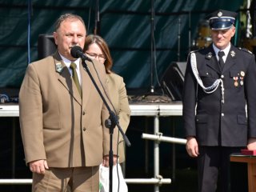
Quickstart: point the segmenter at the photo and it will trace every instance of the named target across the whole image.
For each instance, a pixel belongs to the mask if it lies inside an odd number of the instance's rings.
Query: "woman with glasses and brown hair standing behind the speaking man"
[[[98,35],[90,34],[86,37],[84,52],[88,58],[97,60],[105,66],[110,101],[114,106],[115,114],[118,115],[119,124],[122,130],[126,132],[130,122],[130,107],[126,94],[126,85],[121,76],[114,74],[114,72],[111,71],[113,60],[110,55],[109,47],[103,38]],[[112,107],[110,106],[110,108]],[[117,129],[117,127],[115,129]],[[124,142],[122,135],[120,134],[118,142],[118,162],[121,163],[124,161]],[[108,166],[108,159],[104,159],[102,165]]]

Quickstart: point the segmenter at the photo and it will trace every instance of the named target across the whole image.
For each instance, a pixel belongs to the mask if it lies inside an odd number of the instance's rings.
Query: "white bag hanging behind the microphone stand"
[[[117,173],[118,167],[118,173]],[[99,166],[99,191],[100,192],[109,192],[110,189],[110,173],[109,167]],[[119,191],[118,191],[118,176],[119,176]],[[117,163],[113,166],[113,182],[112,182],[112,191],[113,192],[128,192],[128,187],[126,185],[126,181],[123,178],[121,166]]]

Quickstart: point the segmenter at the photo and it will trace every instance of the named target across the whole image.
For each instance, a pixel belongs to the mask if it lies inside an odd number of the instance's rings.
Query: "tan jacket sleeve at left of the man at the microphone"
[[[27,67],[19,92],[19,113],[26,163],[46,159],[42,135],[42,96],[33,64]]]

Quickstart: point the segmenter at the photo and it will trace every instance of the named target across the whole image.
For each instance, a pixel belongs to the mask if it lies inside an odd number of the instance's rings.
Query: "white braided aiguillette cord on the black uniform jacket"
[[[224,103],[224,86],[223,86],[223,81],[221,78],[218,78],[215,80],[214,84],[211,86],[204,86],[202,83],[202,79],[200,78],[199,74],[198,74],[198,68],[197,68],[197,59],[194,53],[191,54],[190,56],[190,62],[191,62],[191,68],[194,74],[194,77],[197,79],[197,82],[199,84],[199,86],[202,87],[202,90],[206,93],[206,94],[211,94],[214,93],[215,90],[217,90],[219,83],[221,82],[221,88],[222,88],[222,103]]]

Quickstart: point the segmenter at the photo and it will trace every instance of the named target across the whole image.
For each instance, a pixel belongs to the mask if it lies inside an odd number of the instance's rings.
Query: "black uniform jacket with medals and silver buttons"
[[[246,146],[256,137],[256,64],[254,54],[231,45],[221,70],[212,44],[196,54],[198,74],[204,86],[222,79],[214,93],[198,85],[188,57],[183,88],[183,120],[186,137],[195,136],[200,146]],[[246,114],[247,108],[247,114]]]

